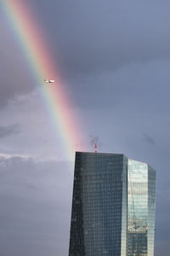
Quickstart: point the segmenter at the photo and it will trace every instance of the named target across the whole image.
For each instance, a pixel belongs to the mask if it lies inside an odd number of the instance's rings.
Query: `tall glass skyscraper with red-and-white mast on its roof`
[[[156,171],[124,154],[76,153],[69,256],[153,256]]]

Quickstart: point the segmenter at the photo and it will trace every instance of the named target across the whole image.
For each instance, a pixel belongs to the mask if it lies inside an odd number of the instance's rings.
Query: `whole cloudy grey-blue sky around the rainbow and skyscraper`
[[[1,256],[65,256],[74,159],[68,157],[63,134],[8,22],[4,1],[0,0]],[[81,138],[74,138],[75,148],[81,145],[94,152],[97,137],[99,152],[122,153],[156,169],[155,256],[168,255],[169,1],[30,0],[28,8],[69,99],[65,110],[75,120],[76,133],[81,133]],[[42,86],[52,90],[55,85]]]

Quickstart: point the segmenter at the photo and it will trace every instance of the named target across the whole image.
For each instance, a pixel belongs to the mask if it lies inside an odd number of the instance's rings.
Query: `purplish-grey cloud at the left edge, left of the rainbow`
[[[21,43],[14,40],[17,35],[3,15],[0,23],[0,108],[4,108],[8,102],[17,101],[18,96],[30,94],[36,84]]]

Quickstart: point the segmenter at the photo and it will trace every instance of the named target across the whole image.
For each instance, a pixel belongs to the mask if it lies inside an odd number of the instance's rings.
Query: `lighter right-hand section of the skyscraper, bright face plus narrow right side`
[[[153,256],[156,171],[145,163],[128,160],[127,179],[127,255]]]

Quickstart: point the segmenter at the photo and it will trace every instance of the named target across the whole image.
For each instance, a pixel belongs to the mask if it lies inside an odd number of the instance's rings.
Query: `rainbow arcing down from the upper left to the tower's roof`
[[[20,47],[26,55],[26,61],[31,69],[35,82],[40,85],[42,102],[46,102],[48,113],[53,120],[56,132],[61,139],[62,151],[67,158],[73,159],[75,151],[82,150],[82,139],[76,115],[71,113],[66,89],[59,80],[56,65],[52,55],[41,37],[41,28],[37,26],[35,17],[23,0],[2,0],[3,12],[12,27]],[[50,88],[43,83],[43,79],[54,79]],[[60,148],[59,148],[60,151]]]

